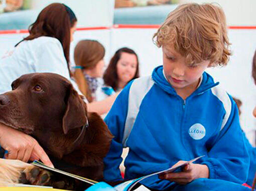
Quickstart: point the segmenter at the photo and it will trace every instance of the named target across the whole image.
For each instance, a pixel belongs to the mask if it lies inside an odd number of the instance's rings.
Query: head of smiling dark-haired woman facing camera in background
[[[111,58],[103,79],[106,85],[115,91],[121,90],[129,81],[140,76],[139,58],[137,53],[130,48],[118,49]]]

